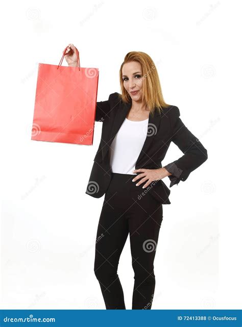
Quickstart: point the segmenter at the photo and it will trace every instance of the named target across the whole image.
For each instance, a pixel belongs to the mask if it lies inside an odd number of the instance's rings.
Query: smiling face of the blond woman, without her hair
[[[142,67],[139,62],[127,62],[123,66],[123,82],[132,100],[138,101],[142,96]],[[132,93],[136,91],[135,93]]]

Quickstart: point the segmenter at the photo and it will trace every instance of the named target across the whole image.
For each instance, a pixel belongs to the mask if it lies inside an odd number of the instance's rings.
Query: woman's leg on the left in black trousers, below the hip
[[[105,194],[96,234],[94,272],[100,283],[106,309],[126,309],[117,274],[119,257],[129,234],[122,194],[116,179],[112,179]]]

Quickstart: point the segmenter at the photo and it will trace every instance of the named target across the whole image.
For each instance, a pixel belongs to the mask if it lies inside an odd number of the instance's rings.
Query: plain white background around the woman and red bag
[[[120,93],[128,52],[148,53],[165,101],[178,106],[208,150],[208,160],[174,185],[171,205],[163,205],[152,309],[241,308],[239,4],[4,3],[1,309],[105,309],[93,270],[104,196],[85,193],[102,122],[92,146],[31,140],[38,63],[58,64],[69,43],[82,67],[99,68],[98,101]],[[181,156],[172,143],[162,165]],[[129,238],[118,275],[131,309]]]

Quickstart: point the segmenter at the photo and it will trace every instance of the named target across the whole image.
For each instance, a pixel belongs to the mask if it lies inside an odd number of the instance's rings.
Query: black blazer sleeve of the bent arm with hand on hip
[[[183,156],[164,166],[172,175],[169,175],[172,187],[174,184],[185,181],[189,174],[201,166],[207,159],[207,150],[199,139],[193,135],[184,125],[180,118],[179,108],[173,106],[171,109],[171,139],[183,152]]]

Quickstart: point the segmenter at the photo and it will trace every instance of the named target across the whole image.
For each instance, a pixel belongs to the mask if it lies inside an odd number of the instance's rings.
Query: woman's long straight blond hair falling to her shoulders
[[[170,106],[164,101],[159,75],[153,60],[149,55],[140,51],[132,51],[125,56],[124,62],[119,70],[119,81],[121,88],[121,94],[119,94],[119,97],[125,103],[131,101],[131,97],[124,87],[122,72],[124,64],[131,61],[139,62],[142,67],[142,101],[147,104],[151,114],[153,115],[155,113],[156,108],[159,112],[161,112],[162,108]]]

